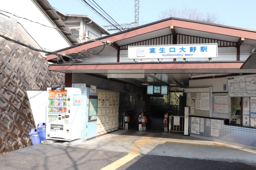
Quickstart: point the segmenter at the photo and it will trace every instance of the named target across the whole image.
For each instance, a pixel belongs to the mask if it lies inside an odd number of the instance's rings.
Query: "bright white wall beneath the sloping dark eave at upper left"
[[[19,17],[54,27],[48,18],[41,12],[32,0],[2,0],[1,10],[10,12]],[[42,26],[38,23],[17,18],[6,12],[1,12],[9,17],[17,19],[31,37],[42,47],[49,51],[56,51],[69,47],[67,40],[55,29]]]

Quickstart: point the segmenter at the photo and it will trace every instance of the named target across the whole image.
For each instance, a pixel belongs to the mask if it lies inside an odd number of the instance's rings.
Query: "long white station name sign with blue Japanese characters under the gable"
[[[218,44],[129,46],[128,59],[217,58]]]

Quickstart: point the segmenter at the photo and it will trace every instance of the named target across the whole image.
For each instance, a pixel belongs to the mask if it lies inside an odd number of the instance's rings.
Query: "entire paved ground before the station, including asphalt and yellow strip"
[[[0,170],[256,170],[256,150],[163,133],[160,125],[146,132],[118,130],[73,147],[15,150],[0,155]]]

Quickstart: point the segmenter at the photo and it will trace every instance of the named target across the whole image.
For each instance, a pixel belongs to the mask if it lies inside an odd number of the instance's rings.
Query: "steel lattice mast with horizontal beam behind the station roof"
[[[122,29],[131,29],[139,26],[139,1],[140,0],[134,0],[134,23],[126,23],[126,24],[119,24],[119,25],[108,25],[103,26],[108,31],[112,30],[118,30],[116,27],[121,26]]]

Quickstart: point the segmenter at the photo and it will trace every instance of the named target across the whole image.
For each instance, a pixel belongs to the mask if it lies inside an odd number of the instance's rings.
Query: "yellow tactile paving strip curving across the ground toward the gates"
[[[101,170],[116,170],[117,168],[121,167],[122,165],[126,164],[128,161],[131,161],[136,156],[140,154],[141,147],[143,143],[152,143],[155,139],[150,139],[152,136],[157,135],[159,133],[148,133],[146,136],[135,142],[134,146],[131,149],[131,152],[118,159],[117,161],[113,162],[112,164],[102,168]]]

